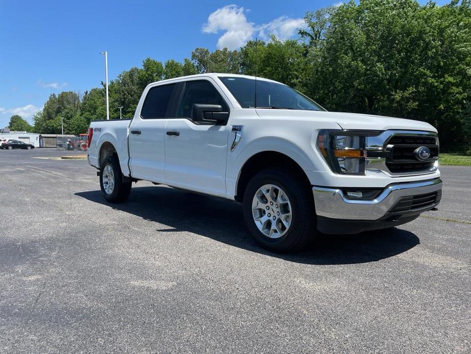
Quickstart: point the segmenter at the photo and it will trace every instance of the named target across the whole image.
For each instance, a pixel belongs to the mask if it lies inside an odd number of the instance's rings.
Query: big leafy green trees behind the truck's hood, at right
[[[307,18],[309,95],[327,109],[391,115],[437,127],[442,146],[464,141],[471,85],[471,5],[350,1]],[[322,22],[322,23],[321,23]],[[315,29],[322,28],[316,32]]]

